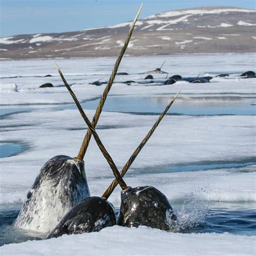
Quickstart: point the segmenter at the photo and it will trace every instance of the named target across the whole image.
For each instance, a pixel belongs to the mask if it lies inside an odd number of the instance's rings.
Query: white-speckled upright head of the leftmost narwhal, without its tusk
[[[53,157],[38,173],[14,225],[50,232],[73,206],[89,196],[84,161]]]

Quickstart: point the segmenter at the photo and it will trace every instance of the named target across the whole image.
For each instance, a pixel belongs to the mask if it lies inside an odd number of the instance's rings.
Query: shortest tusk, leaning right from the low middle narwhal
[[[167,111],[170,109],[171,105],[173,104],[174,100],[176,100],[177,96],[179,95],[180,91],[173,97],[173,99],[171,100],[171,102],[167,105],[167,107],[165,108],[164,112],[160,114],[159,118],[157,119],[156,123],[154,123],[154,125],[152,126],[151,130],[147,133],[146,137],[142,140],[142,142],[139,144],[139,146],[137,147],[137,149],[133,152],[132,156],[129,158],[129,160],[127,161],[127,163],[124,165],[122,171],[120,172],[121,176],[124,177],[125,173],[127,172],[127,170],[130,168],[131,164],[133,163],[133,161],[136,159],[136,157],[138,156],[140,150],[142,150],[142,148],[145,146],[145,144],[147,143],[147,140],[149,140],[149,138],[151,137],[151,135],[153,134],[154,130],[156,130],[158,124],[161,122],[161,119],[163,119],[163,117],[165,116],[165,114],[167,113]],[[102,198],[107,199],[110,197],[111,193],[113,192],[114,188],[117,186],[117,180],[113,180],[111,185],[107,188],[107,190],[104,192]]]

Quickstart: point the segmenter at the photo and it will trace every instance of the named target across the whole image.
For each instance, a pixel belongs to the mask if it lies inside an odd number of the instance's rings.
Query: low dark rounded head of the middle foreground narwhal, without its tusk
[[[98,232],[113,225],[116,225],[116,215],[112,204],[101,197],[88,197],[73,207],[47,238],[63,234]]]

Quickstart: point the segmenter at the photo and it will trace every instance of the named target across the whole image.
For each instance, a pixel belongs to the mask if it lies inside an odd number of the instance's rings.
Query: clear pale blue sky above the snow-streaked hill
[[[0,37],[77,31],[131,21],[168,10],[200,6],[255,9],[255,0],[0,0]]]

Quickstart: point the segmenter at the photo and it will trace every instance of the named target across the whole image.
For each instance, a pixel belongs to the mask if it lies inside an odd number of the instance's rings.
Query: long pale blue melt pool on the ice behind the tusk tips
[[[104,104],[104,111],[127,113],[161,113],[173,96],[136,97],[110,96]],[[177,99],[171,107],[171,113],[190,115],[214,114],[256,114],[256,107],[251,105],[255,99],[218,97]],[[96,109],[99,99],[90,100],[82,104],[84,109]],[[75,104],[58,106],[57,109],[76,109]]]

